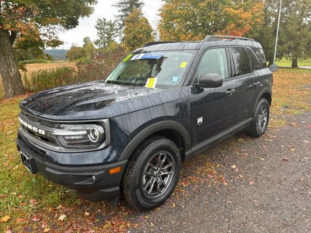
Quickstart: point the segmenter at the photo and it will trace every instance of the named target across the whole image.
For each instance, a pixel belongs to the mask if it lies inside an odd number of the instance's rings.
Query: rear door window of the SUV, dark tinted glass
[[[250,59],[245,48],[230,48],[234,64],[233,77],[252,73]]]

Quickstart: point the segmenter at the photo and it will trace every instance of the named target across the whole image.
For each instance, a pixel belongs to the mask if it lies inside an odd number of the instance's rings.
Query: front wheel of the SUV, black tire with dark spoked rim
[[[152,166],[153,163],[157,165]],[[147,138],[138,146],[125,168],[121,182],[123,197],[130,205],[140,210],[156,208],[173,193],[179,179],[180,165],[178,147],[171,140],[160,136]],[[157,191],[153,192],[155,189],[159,191],[158,197]]]

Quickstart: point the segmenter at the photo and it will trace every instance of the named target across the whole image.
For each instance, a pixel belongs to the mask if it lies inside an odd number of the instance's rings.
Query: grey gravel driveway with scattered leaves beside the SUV
[[[311,113],[287,122],[259,139],[239,133],[185,163],[174,195],[134,211],[129,232],[310,233]]]

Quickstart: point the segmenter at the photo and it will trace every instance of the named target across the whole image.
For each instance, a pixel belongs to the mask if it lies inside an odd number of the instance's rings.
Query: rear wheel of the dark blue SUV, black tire
[[[266,118],[263,117],[262,109],[266,111]],[[269,123],[269,115],[270,115],[270,106],[266,99],[259,100],[259,103],[256,106],[256,110],[253,116],[253,121],[249,126],[247,134],[251,137],[260,137],[265,133],[268,123]],[[264,121],[264,124],[263,124]]]

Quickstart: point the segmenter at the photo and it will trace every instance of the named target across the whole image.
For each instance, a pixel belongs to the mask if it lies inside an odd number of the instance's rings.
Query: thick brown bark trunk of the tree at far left
[[[0,76],[6,98],[25,94],[13,51],[16,34],[0,29]]]

